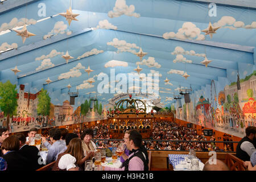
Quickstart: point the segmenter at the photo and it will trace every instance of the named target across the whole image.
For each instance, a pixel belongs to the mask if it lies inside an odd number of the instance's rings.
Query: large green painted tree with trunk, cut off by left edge
[[[6,127],[9,129],[10,117],[16,113],[17,103],[16,85],[11,84],[8,80],[4,84],[0,82],[0,109],[7,117]]]

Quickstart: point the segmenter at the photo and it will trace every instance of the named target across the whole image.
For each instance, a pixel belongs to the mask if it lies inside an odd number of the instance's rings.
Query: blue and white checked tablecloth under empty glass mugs
[[[174,171],[176,170],[182,170],[182,171],[186,171],[186,170],[190,170],[190,164],[186,162],[186,158],[188,158],[188,155],[185,154],[169,154],[168,155],[169,158],[169,164],[172,164],[172,166],[174,167]],[[197,158],[198,159],[198,158]],[[200,159],[199,160],[199,170],[203,170],[204,168],[204,163],[201,162]]]

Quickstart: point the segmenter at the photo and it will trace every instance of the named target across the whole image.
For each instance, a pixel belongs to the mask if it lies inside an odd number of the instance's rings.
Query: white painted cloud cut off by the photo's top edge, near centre
[[[113,8],[113,11],[109,11],[108,16],[109,18],[116,18],[121,15],[127,15],[127,16],[134,16],[136,18],[139,18],[141,16],[138,13],[134,13],[135,7],[134,5],[127,6],[125,0],[117,0],[115,1],[115,6]]]

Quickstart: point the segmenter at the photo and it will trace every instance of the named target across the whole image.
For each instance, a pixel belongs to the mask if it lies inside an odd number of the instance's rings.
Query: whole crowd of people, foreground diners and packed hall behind
[[[85,161],[92,160],[97,148],[111,149],[117,147],[117,140],[96,140],[109,139],[108,126],[97,125],[97,135],[93,136],[93,130],[86,128],[79,134],[68,133],[67,129],[53,128],[48,131],[48,136],[42,136],[42,144],[48,149],[46,164],[55,161],[53,170],[78,171],[84,170]],[[152,138],[156,140],[206,140],[204,135],[199,135],[196,130],[183,127],[174,122],[154,123]],[[40,162],[39,150],[35,146],[30,146],[30,138],[37,133],[36,129],[31,129],[26,138],[24,134],[18,133],[9,136],[7,129],[0,129],[0,170],[34,171],[43,167],[45,163]],[[125,144],[127,151],[122,155],[121,168],[104,168],[105,170],[147,170],[148,156],[147,150],[189,150],[194,148],[199,151],[213,150],[214,137],[212,143],[203,144],[199,142],[162,142],[162,141],[142,141],[142,136],[138,130],[128,130],[125,133]],[[246,128],[246,137],[244,137],[236,148],[237,157],[242,159],[243,164],[248,170],[255,170],[256,159],[256,127]],[[209,149],[210,148],[210,149]],[[107,151],[106,151],[107,153]],[[220,163],[221,165],[221,163]],[[207,169],[207,167],[205,167]],[[205,170],[206,170],[205,169]],[[224,170],[224,169],[223,169]]]

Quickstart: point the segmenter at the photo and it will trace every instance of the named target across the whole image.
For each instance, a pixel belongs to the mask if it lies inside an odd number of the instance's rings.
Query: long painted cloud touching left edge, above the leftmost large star
[[[20,18],[19,20],[17,18],[11,19],[9,23],[3,23],[0,27],[0,32],[6,31],[15,27],[23,26],[24,24],[36,24],[35,19],[27,19],[27,18]]]

